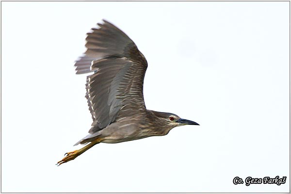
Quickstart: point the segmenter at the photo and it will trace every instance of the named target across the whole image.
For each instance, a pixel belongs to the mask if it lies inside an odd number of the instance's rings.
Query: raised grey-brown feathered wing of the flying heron
[[[87,33],[87,50],[75,64],[77,74],[94,72],[86,83],[85,97],[93,118],[89,133],[107,127],[118,117],[146,112],[146,58],[124,32],[103,22]]]

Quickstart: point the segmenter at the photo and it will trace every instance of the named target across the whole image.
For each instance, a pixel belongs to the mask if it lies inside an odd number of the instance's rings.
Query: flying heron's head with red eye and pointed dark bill
[[[151,111],[156,117],[165,125],[171,126],[172,128],[183,126],[183,125],[199,125],[194,121],[180,118],[177,114],[163,113],[157,111]]]

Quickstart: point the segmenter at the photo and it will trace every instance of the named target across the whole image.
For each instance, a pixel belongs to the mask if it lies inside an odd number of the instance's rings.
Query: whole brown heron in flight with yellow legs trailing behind
[[[87,33],[86,51],[76,61],[77,74],[87,76],[86,98],[92,114],[88,144],[68,152],[57,164],[74,160],[98,143],[120,143],[166,135],[182,125],[198,125],[173,113],[146,110],[143,95],[147,62],[134,42],[108,21]]]

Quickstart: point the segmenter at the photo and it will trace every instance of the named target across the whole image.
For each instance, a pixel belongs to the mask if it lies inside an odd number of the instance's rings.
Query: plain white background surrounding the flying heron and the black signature
[[[2,192],[289,192],[289,3],[1,2]],[[90,129],[73,65],[102,18],[146,56],[147,109],[200,126],[57,167]]]

